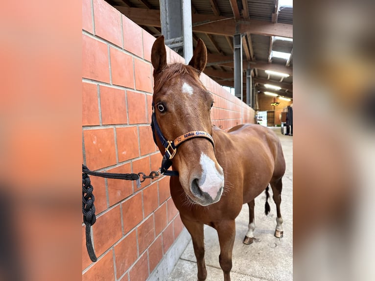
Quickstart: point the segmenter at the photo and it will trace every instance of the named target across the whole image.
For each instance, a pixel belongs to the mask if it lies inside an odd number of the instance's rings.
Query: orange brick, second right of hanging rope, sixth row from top
[[[124,233],[128,233],[132,228],[141,222],[142,214],[142,194],[138,193],[127,199],[121,204],[122,221],[124,225]]]

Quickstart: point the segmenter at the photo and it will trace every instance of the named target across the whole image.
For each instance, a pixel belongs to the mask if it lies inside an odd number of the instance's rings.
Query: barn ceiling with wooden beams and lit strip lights
[[[155,37],[161,35],[159,0],[106,0]],[[203,71],[223,86],[234,87],[233,35],[243,35],[243,70],[252,69],[260,92],[293,97],[293,7],[287,0],[191,0],[193,45],[201,38],[208,50]],[[291,2],[291,1],[290,1]],[[281,77],[265,70],[289,74]],[[280,90],[265,88],[265,84]],[[245,85],[244,85],[245,87]],[[246,91],[244,91],[244,94]]]

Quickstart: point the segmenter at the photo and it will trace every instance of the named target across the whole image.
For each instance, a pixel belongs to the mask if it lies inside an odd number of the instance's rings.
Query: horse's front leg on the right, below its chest
[[[231,281],[235,222],[234,220],[222,221],[217,225],[216,230],[220,243],[219,263],[224,273],[224,281]]]

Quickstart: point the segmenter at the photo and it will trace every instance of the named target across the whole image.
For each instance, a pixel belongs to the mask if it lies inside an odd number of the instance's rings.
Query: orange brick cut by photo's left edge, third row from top
[[[95,84],[82,83],[82,126],[99,125],[99,106]]]

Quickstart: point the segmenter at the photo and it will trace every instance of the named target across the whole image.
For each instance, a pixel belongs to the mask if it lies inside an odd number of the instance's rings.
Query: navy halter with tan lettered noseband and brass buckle
[[[194,138],[206,138],[211,141],[213,147],[215,147],[213,143],[213,139],[211,135],[205,131],[190,131],[185,133],[173,141],[168,141],[164,138],[162,131],[156,121],[155,110],[154,110],[154,102],[152,102],[152,117],[151,117],[151,129],[152,129],[152,136],[154,137],[154,141],[156,142],[155,132],[159,137],[159,140],[162,142],[165,153],[162,160],[162,166],[160,168],[160,172],[166,176],[178,176],[177,171],[168,171],[168,168],[172,165],[172,159],[176,155],[177,147],[183,143],[184,141],[188,141]]]

